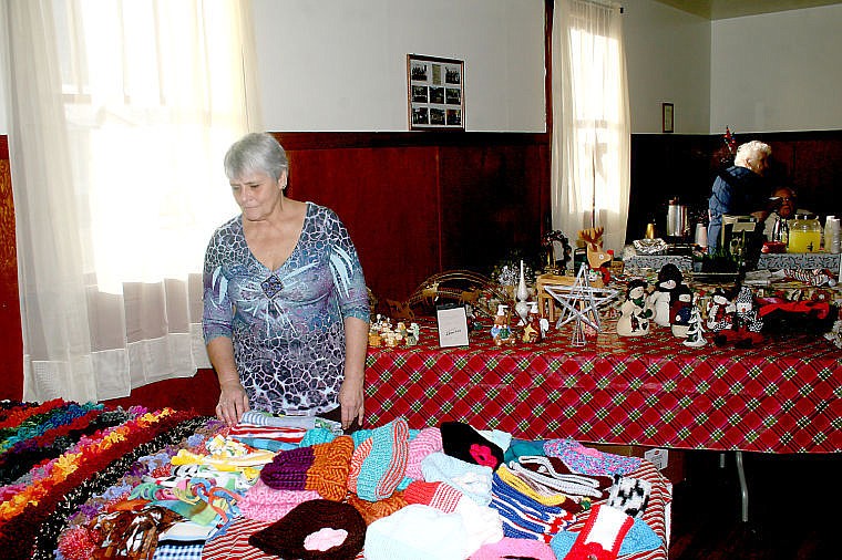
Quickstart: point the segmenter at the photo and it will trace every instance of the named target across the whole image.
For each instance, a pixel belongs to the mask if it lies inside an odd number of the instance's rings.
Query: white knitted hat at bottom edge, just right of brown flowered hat
[[[366,531],[366,560],[464,560],[464,528],[458,514],[410,504]]]

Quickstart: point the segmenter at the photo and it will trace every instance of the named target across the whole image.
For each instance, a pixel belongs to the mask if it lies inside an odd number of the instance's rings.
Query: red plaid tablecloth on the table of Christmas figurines
[[[842,452],[842,352],[794,335],[739,350],[692,349],[666,329],[624,339],[614,324],[571,346],[569,331],[497,348],[487,331],[440,349],[369,349],[367,423],[462,421],[525,439],[769,453]],[[706,333],[707,335],[708,333]]]

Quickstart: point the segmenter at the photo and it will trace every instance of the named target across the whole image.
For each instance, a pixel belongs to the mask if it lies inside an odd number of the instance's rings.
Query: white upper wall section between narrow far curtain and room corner
[[[661,132],[661,103],[676,134],[708,134],[710,21],[654,0],[623,2],[632,133]]]

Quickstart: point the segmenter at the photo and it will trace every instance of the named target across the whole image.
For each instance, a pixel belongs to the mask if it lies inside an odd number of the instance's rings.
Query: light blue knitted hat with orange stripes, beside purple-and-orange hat
[[[398,488],[407,471],[409,425],[397,418],[371,431],[351,456],[348,488],[362,499],[388,498]]]

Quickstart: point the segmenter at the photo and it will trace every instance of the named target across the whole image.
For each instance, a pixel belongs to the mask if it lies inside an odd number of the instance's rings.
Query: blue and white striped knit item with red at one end
[[[496,474],[491,491],[490,506],[500,512],[506,537],[550,542],[553,535],[575,521],[573,514],[535,501],[503,483]]]

